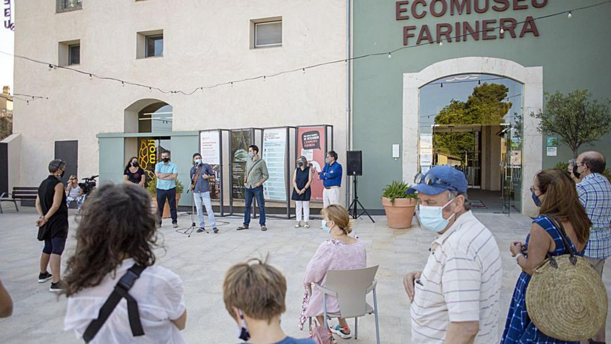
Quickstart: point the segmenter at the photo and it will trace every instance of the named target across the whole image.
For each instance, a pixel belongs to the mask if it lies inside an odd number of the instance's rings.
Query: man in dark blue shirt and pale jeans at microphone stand
[[[191,167],[191,190],[195,198],[195,206],[197,208],[197,220],[199,220],[199,230],[197,233],[205,231],[203,226],[203,205],[206,206],[208,220],[214,233],[219,233],[214,222],[214,211],[210,202],[210,187],[208,181],[214,179],[214,170],[212,166],[202,162],[202,155],[199,153],[193,154],[193,167]]]

